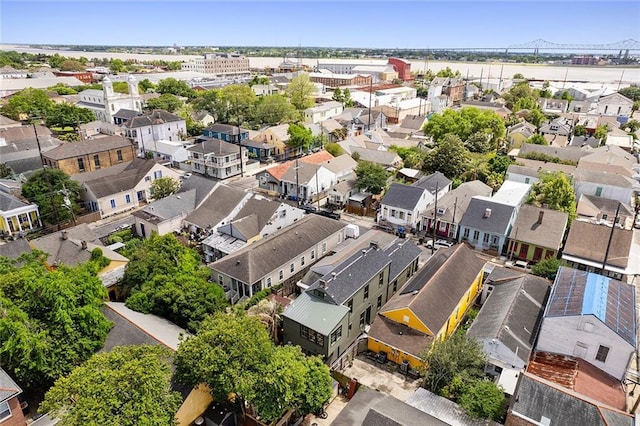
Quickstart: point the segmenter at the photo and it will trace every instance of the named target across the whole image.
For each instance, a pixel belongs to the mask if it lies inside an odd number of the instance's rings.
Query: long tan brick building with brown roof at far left
[[[136,150],[128,139],[108,136],[64,143],[42,155],[49,167],[60,169],[68,175],[76,175],[133,161]]]

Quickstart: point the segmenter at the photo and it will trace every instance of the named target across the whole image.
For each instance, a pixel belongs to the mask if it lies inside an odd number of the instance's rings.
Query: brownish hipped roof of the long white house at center
[[[338,220],[310,214],[223,257],[211,268],[243,283],[253,284],[345,227],[346,224]]]

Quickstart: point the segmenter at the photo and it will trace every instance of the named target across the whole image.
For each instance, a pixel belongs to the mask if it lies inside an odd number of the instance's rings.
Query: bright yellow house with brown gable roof
[[[466,244],[439,249],[383,306],[369,330],[368,349],[420,366],[420,354],[450,336],[473,304],[484,264]]]

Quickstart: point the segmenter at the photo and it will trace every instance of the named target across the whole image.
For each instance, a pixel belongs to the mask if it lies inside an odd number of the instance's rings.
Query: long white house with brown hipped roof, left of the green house
[[[211,264],[213,279],[232,303],[282,285],[285,295],[313,263],[345,239],[346,225],[320,215],[303,219]]]

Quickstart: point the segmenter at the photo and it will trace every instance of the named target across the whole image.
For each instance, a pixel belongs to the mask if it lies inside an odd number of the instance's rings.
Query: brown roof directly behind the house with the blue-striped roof
[[[601,267],[610,235],[611,227],[575,220],[571,223],[567,241],[564,243],[563,258],[578,257],[585,261],[597,262],[596,266]],[[615,228],[607,265],[624,269],[629,263],[632,240],[632,230]]]

